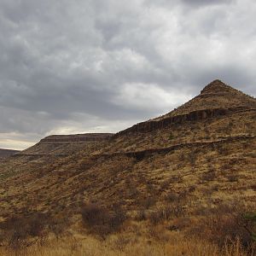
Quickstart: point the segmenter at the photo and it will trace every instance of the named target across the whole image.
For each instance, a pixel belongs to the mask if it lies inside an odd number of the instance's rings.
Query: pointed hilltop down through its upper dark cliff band
[[[166,113],[156,119],[133,125],[131,128],[119,133],[125,134],[129,131],[155,131],[172,123],[180,124],[187,120],[195,121],[196,119],[206,119],[227,113],[251,112],[255,109],[256,103],[253,97],[245,95],[220,80],[214,80],[201,90],[199,96],[195,96],[195,98],[174,109],[172,112]]]

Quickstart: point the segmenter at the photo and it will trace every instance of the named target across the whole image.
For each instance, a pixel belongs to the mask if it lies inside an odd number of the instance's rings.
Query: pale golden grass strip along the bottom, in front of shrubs
[[[219,251],[216,245],[198,239],[184,239],[176,234],[168,241],[151,241],[145,237],[138,237],[130,241],[124,235],[110,236],[106,241],[86,236],[70,236],[61,240],[47,241],[43,246],[33,245],[17,251],[1,249],[0,255],[11,256],[253,256],[241,249],[240,241],[226,246]]]

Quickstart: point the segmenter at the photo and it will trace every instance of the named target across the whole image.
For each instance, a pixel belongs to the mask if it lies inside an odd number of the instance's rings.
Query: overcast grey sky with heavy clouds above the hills
[[[256,96],[253,0],[0,0],[0,148],[116,132],[213,79]]]

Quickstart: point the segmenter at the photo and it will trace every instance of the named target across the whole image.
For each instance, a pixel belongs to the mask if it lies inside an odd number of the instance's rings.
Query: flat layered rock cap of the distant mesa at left
[[[72,135],[50,135],[44,137],[40,143],[79,143],[79,142],[101,142],[112,137],[112,133],[84,133]]]

